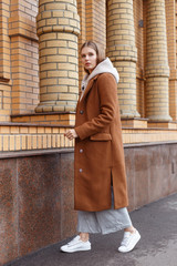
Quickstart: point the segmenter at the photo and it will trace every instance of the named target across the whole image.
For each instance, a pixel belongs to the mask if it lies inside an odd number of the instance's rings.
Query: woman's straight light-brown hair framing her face
[[[84,42],[81,47],[80,53],[82,52],[82,49],[85,47],[92,48],[96,52],[96,55],[97,55],[96,65],[105,59],[103,49],[96,42],[93,42],[93,41]],[[86,70],[85,68],[84,68],[84,70],[86,73],[90,74],[88,70]]]

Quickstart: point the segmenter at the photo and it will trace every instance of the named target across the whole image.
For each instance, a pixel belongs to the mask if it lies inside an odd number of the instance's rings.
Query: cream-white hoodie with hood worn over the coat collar
[[[101,73],[111,73],[115,78],[117,83],[119,81],[119,75],[118,75],[117,70],[113,66],[111,60],[108,58],[106,58],[104,61],[102,61],[100,64],[96,65],[96,68],[92,71],[92,73],[90,75],[86,74],[84,76],[84,79],[81,83],[82,94],[81,94],[80,101],[84,95],[84,91],[87,86],[88,81],[91,79],[93,79],[95,75],[101,74]]]

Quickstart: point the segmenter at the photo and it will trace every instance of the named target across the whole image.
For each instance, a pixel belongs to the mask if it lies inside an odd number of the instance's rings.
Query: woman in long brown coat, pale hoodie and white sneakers
[[[75,139],[74,208],[79,211],[79,235],[61,247],[62,252],[90,250],[88,234],[108,234],[124,229],[118,247],[131,252],[140,235],[127,213],[122,126],[117,102],[118,73],[95,42],[81,48],[86,75],[76,106],[74,130],[65,133]]]

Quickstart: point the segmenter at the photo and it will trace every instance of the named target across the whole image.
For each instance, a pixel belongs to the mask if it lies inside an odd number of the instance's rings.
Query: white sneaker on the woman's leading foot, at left
[[[91,250],[91,243],[90,243],[90,241],[87,241],[87,242],[81,241],[80,236],[77,235],[71,242],[69,242],[66,245],[61,246],[60,249],[65,253]]]

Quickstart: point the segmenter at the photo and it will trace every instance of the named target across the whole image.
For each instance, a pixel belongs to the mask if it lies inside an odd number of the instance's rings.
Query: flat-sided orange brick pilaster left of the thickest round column
[[[12,0],[10,11],[12,114],[29,113],[39,102],[38,0]]]

